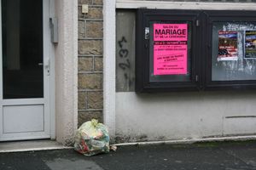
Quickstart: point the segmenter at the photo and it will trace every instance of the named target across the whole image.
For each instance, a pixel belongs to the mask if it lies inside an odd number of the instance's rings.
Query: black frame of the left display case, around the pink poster
[[[137,11],[137,46],[136,46],[136,91],[172,91],[172,90],[196,90],[200,88],[199,82],[195,80],[198,75],[198,63],[196,55],[199,51],[196,47],[196,39],[200,37],[200,27],[196,26],[196,20],[200,16],[195,10],[150,10],[139,9]],[[149,21],[191,21],[192,42],[191,42],[191,82],[149,82],[149,40],[144,38],[144,28],[149,27]]]

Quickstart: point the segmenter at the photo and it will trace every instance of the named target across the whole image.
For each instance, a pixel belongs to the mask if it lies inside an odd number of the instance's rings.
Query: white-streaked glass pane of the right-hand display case
[[[256,80],[256,58],[245,58],[248,31],[256,22],[213,22],[212,81]]]

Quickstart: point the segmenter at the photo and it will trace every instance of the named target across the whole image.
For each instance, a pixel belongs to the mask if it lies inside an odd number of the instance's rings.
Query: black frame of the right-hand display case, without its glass
[[[256,80],[234,80],[234,81],[212,81],[212,23],[214,21],[256,21],[255,11],[204,11],[205,27],[207,37],[207,47],[202,54],[207,58],[204,63],[207,64],[203,73],[205,73],[204,89],[255,89]]]

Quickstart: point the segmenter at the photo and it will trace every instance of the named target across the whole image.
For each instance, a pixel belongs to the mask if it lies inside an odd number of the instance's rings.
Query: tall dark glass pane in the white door
[[[42,0],[2,0],[3,99],[42,98]]]

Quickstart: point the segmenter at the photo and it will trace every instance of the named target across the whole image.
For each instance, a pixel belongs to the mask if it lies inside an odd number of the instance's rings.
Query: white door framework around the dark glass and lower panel
[[[55,8],[54,8],[55,0],[43,0],[43,35],[44,35],[44,65],[49,62],[49,76],[47,74],[46,69],[44,68],[44,98],[43,100],[48,100],[48,105],[45,106],[44,111],[48,111],[48,119],[47,122],[49,129],[47,132],[49,135],[44,137],[31,137],[28,139],[55,139],[55,47],[54,44],[50,42],[50,26],[49,26],[49,18],[54,17]],[[0,110],[3,111],[4,100],[8,100],[8,102],[19,102],[18,105],[22,105],[22,101],[26,101],[27,99],[4,99],[3,100],[3,49],[2,49],[2,1],[0,0]],[[48,61],[49,60],[49,61]],[[47,80],[47,81],[45,81]],[[47,89],[47,90],[46,90]],[[47,92],[48,94],[45,94]],[[37,101],[42,99],[33,99],[34,104]],[[44,102],[45,103],[45,102]],[[13,104],[12,104],[13,105]],[[15,105],[15,103],[14,103]],[[0,116],[0,122],[3,122],[3,115]],[[0,126],[0,132],[3,132],[3,126]],[[22,138],[18,138],[22,139]],[[0,141],[11,140],[9,138],[0,139]]]

